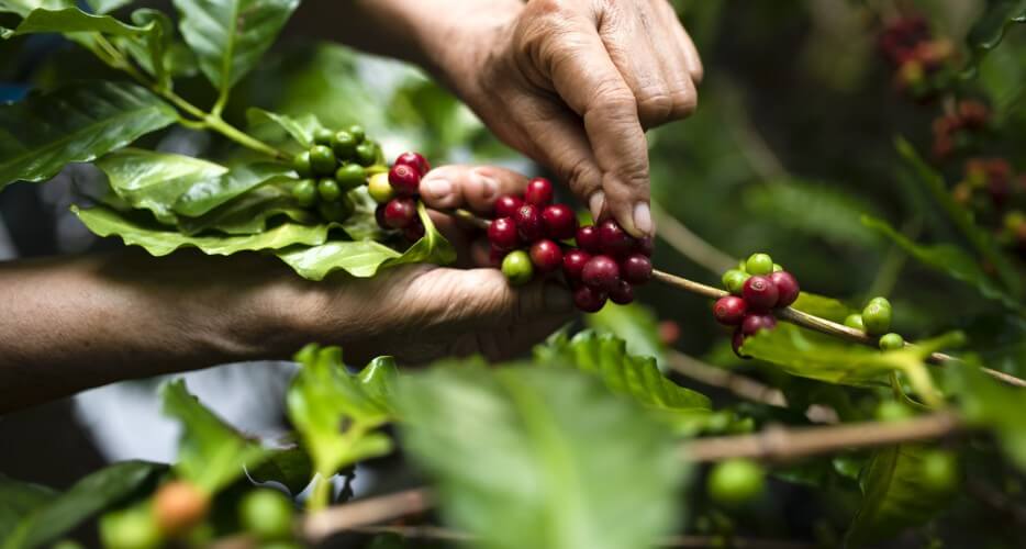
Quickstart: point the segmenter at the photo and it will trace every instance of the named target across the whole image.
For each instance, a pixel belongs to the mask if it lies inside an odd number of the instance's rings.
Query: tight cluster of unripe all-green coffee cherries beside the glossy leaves
[[[325,221],[342,223],[356,206],[348,193],[367,183],[368,168],[379,164],[381,146],[368,139],[364,127],[333,132],[317,128],[313,145],[292,158],[300,180],[292,183],[292,198],[316,209]]]

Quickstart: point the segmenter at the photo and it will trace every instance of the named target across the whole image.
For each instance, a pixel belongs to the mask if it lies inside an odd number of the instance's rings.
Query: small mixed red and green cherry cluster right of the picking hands
[[[731,295],[716,300],[713,316],[734,328],[734,352],[741,358],[748,358],[740,352],[745,338],[777,327],[773,310],[790,306],[801,291],[798,279],[767,254],[752,254],[737,269],[726,271],[723,285]]]

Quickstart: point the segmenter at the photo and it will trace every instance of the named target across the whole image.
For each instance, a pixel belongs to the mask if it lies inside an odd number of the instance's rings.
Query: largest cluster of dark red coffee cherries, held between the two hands
[[[634,238],[613,220],[580,226],[570,206],[553,203],[553,183],[545,178],[532,179],[522,195],[495,201],[488,239],[492,261],[511,284],[561,272],[586,313],[607,300],[631,303],[634,287],[651,278],[651,238]]]

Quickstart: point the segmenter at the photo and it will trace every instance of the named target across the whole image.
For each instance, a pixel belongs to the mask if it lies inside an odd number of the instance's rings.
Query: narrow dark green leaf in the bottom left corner
[[[2,548],[29,549],[52,542],[93,515],[121,504],[166,468],[158,463],[125,461],[91,473],[25,515],[4,539]]]

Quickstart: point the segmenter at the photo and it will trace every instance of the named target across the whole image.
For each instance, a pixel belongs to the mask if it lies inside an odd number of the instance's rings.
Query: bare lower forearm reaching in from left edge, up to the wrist
[[[302,282],[272,258],[136,250],[0,264],[0,413],[302,345]]]

